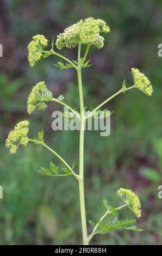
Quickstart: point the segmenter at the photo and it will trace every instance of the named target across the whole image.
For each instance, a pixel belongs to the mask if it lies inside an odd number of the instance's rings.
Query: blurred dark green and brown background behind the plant
[[[95,107],[109,95],[133,80],[130,68],[136,67],[152,81],[154,93],[145,96],[131,90],[117,96],[106,107],[111,115],[111,134],[85,132],[85,197],[87,220],[96,222],[104,212],[102,199],[118,206],[116,191],[130,188],[139,194],[141,233],[131,231],[97,235],[91,244],[160,245],[162,243],[161,69],[158,45],[162,43],[162,2],[160,0],[115,1],[0,1],[0,243],[1,245],[73,245],[82,241],[77,182],[72,178],[50,178],[35,172],[49,166],[55,157],[45,148],[29,144],[16,155],[4,147],[8,132],[22,119],[30,120],[30,137],[43,129],[45,139],[71,164],[78,166],[77,131],[52,131],[51,114],[59,105],[50,104],[31,117],[26,101],[36,82],[45,80],[55,97],[78,107],[76,72],[58,70],[58,60],[41,60],[34,68],[27,61],[27,45],[35,34],[49,40],[80,19],[92,16],[105,20],[111,33],[101,50],[91,48],[94,63],[83,70],[85,105]],[[77,49],[61,53],[76,59]],[[133,218],[123,210],[122,218]],[[89,231],[91,230],[88,225]]]

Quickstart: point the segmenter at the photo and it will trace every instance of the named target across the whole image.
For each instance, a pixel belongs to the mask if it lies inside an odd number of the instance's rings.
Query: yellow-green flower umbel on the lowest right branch
[[[136,217],[141,217],[141,204],[138,196],[132,190],[120,188],[117,194],[122,198],[123,202],[134,212]]]

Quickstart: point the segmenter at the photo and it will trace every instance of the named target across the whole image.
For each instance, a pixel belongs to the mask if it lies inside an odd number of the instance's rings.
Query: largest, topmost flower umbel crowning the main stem
[[[109,33],[109,26],[101,19],[95,20],[89,17],[78,21],[76,24],[66,28],[64,33],[59,34],[56,46],[58,49],[63,47],[72,48],[81,43],[94,45],[99,49],[104,45],[104,38],[100,35],[101,32]]]

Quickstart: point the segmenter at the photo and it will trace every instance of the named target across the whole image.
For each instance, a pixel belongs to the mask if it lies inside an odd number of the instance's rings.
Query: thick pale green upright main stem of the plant
[[[80,50],[81,44],[78,47],[78,63],[80,62]],[[79,198],[80,198],[80,215],[82,221],[82,234],[83,234],[83,244],[87,245],[88,239],[87,227],[86,227],[86,214],[85,214],[85,197],[84,197],[84,101],[83,101],[83,88],[82,88],[82,74],[81,67],[78,66],[78,87],[79,87],[79,102],[80,102],[80,138],[79,138]]]

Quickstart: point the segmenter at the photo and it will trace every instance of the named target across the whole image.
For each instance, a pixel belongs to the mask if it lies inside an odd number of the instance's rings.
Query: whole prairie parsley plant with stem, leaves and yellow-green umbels
[[[47,58],[49,56],[57,56],[62,61],[58,61],[55,66],[59,69],[69,69],[73,68],[76,70],[78,78],[78,90],[79,90],[79,103],[80,111],[79,113],[67,105],[64,102],[64,96],[60,95],[57,99],[53,97],[52,93],[47,89],[47,86],[44,81],[36,83],[33,87],[32,92],[30,92],[27,100],[27,112],[32,114],[36,109],[43,111],[47,107],[48,101],[57,102],[64,107],[67,107],[70,113],[73,114],[73,117],[79,119],[80,124],[80,137],[79,137],[79,170],[74,167],[74,164],[68,163],[63,157],[61,157],[54,149],[50,148],[44,141],[43,131],[38,133],[37,138],[28,137],[28,126],[29,122],[24,120],[18,123],[15,126],[15,129],[11,131],[6,140],[6,146],[10,148],[11,154],[16,153],[17,148],[26,146],[28,142],[35,143],[45,147],[47,150],[51,151],[55,157],[58,157],[62,166],[61,168],[55,166],[54,163],[50,162],[49,167],[41,167],[38,172],[43,175],[51,177],[67,177],[73,176],[74,179],[78,181],[79,187],[79,201],[80,201],[80,217],[82,223],[82,237],[83,244],[89,245],[92,237],[96,234],[105,234],[113,230],[126,229],[133,231],[141,231],[135,226],[135,218],[131,220],[121,220],[120,219],[120,210],[123,208],[130,209],[134,217],[141,217],[141,204],[138,196],[129,189],[120,188],[117,191],[117,195],[123,200],[123,204],[117,206],[116,208],[108,204],[107,199],[103,199],[103,204],[105,206],[105,213],[99,220],[94,224],[91,221],[89,223],[92,225],[90,234],[87,230],[87,221],[86,221],[86,211],[85,211],[85,197],[84,197],[84,127],[85,122],[88,118],[94,117],[94,113],[99,111],[107,102],[113,99],[115,96],[121,93],[127,92],[127,90],[138,88],[147,96],[151,96],[153,89],[151,82],[148,78],[142,74],[138,69],[132,68],[132,75],[134,78],[134,83],[132,86],[127,87],[126,81],[124,80],[121,88],[114,95],[111,95],[105,101],[100,103],[88,114],[84,112],[84,97],[83,97],[83,88],[82,88],[82,68],[88,68],[91,66],[90,59],[88,59],[89,48],[100,49],[104,46],[103,35],[109,33],[109,26],[101,19],[95,20],[94,18],[88,18],[85,20],[80,20],[76,24],[68,27],[65,31],[57,36],[57,40],[54,44],[54,40],[51,41],[51,44],[48,44],[48,40],[44,35],[35,35],[33,40],[28,45],[28,60],[30,66],[34,66],[42,58]],[[49,49],[46,47],[49,45]],[[51,47],[50,47],[51,45]],[[56,46],[56,50],[54,49]],[[83,52],[81,49],[83,45],[86,45],[86,50]],[[62,48],[73,48],[76,47],[78,51],[77,60],[70,60],[67,57],[61,55],[58,51]],[[46,50],[45,50],[46,49]],[[58,51],[57,51],[58,49]],[[82,51],[81,51],[82,50]],[[82,54],[83,53],[83,54]],[[90,228],[89,228],[90,230]]]

